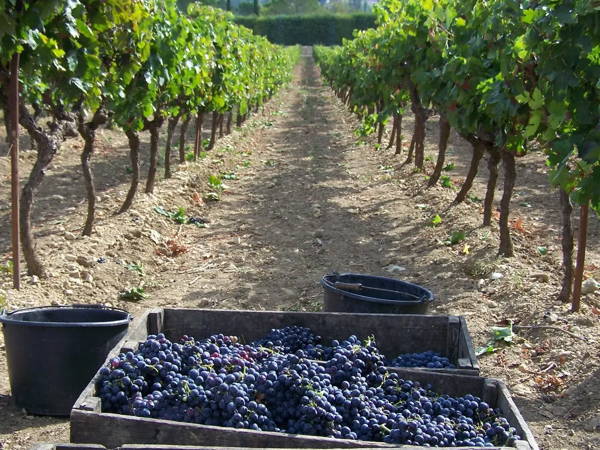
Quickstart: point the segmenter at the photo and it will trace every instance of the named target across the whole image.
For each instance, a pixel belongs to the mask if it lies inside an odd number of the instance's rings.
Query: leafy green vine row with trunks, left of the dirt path
[[[182,13],[173,0],[49,0],[0,2],[0,107],[10,138],[10,62],[19,54],[19,124],[37,149],[20,193],[23,256],[32,275],[44,266],[31,235],[31,205],[44,170],[69,137],[80,136],[88,197],[83,235],[91,235],[95,200],[91,157],[104,124],[127,135],[133,175],[120,212],[130,208],[140,180],[140,132],[151,137],[145,192],[154,190],[160,129],[167,124],[164,176],[181,121],[179,161],[195,120],[193,160],[202,148],[202,121],[212,113],[211,139],[224,117],[241,126],[291,79],[301,49],[281,47],[236,25],[224,11],[191,4]],[[50,119],[40,125],[41,116]]]

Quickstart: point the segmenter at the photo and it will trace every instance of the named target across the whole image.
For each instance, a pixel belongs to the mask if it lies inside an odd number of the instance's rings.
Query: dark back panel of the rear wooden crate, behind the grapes
[[[352,334],[363,341],[374,335],[377,348],[388,359],[401,353],[448,352],[448,316],[166,309],[163,325],[163,332],[173,339],[223,333],[250,342],[273,328],[298,325],[311,328],[326,344]]]

